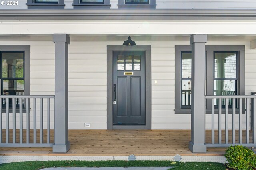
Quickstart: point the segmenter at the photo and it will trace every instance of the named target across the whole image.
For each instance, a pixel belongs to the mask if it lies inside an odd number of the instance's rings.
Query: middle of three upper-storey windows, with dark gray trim
[[[74,8],[110,8],[110,0],[74,0]]]

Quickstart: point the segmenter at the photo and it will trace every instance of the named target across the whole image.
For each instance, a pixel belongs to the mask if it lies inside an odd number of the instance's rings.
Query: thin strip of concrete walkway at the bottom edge
[[[59,167],[44,170],[168,170],[173,167]]]

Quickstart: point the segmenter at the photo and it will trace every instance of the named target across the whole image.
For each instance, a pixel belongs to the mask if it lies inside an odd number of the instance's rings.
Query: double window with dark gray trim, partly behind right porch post
[[[206,95],[244,95],[244,46],[206,46]],[[175,113],[191,112],[191,46],[175,47]],[[218,107],[215,100],[215,107]],[[224,100],[222,101],[224,108]],[[229,101],[232,107],[232,100]],[[211,101],[206,101],[206,109]]]

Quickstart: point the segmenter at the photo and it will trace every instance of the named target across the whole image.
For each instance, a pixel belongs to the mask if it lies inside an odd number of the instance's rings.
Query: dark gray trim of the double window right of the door
[[[228,50],[227,50],[228,49]],[[175,114],[191,114],[191,109],[181,108],[181,52],[192,51],[191,45],[175,46]],[[238,51],[237,61],[237,94],[245,93],[245,46],[244,45],[206,45],[206,95],[214,94],[214,51]],[[207,60],[208,59],[208,60]],[[206,101],[206,112],[211,108],[211,102]]]

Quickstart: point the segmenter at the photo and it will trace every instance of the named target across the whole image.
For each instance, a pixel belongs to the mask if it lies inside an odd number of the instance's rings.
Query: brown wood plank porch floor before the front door
[[[38,131],[38,137],[39,134]],[[206,131],[206,140],[211,140],[210,134],[211,131]],[[24,132],[24,140],[26,139],[25,135],[26,132]],[[12,137],[11,132],[10,137]],[[0,155],[125,156],[135,154],[136,156],[174,156],[180,154],[183,156],[222,156],[225,151],[224,148],[208,148],[206,154],[193,154],[188,149],[190,130],[69,130],[69,141],[71,148],[66,154],[52,153],[52,148],[1,147]]]

